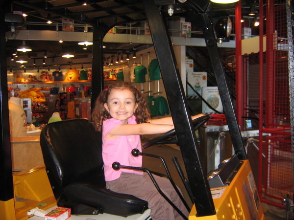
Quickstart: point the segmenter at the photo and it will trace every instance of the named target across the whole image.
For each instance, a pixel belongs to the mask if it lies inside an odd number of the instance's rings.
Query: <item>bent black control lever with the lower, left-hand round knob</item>
[[[153,175],[150,173],[150,171],[148,170],[148,169],[146,169],[146,168],[142,168],[142,167],[131,167],[131,166],[123,166],[123,165],[121,165],[119,162],[113,162],[113,164],[112,164],[112,168],[114,169],[114,170],[119,170],[119,169],[128,169],[128,170],[140,170],[140,171],[143,171],[143,172],[146,172],[149,176],[150,176],[150,178],[151,178],[151,180],[152,180],[152,182],[153,182],[153,184],[154,184],[154,186],[156,187],[156,189],[157,189],[157,191],[160,193],[160,195],[163,197],[163,198],[165,198],[165,200],[167,200],[167,202],[168,203],[170,203],[170,205],[172,206],[172,208],[174,208],[174,210],[175,211],[177,211],[179,214],[180,214],[180,216],[182,216],[183,217],[183,219],[185,219],[185,220],[188,220],[188,218],[181,212],[181,210],[179,210],[178,209],[178,207],[176,207],[175,206],[175,204],[173,204],[173,202],[161,191],[161,189],[159,188],[159,186],[158,186],[158,184],[157,184],[157,182],[156,182],[156,180],[154,179],[154,177],[153,177]]]

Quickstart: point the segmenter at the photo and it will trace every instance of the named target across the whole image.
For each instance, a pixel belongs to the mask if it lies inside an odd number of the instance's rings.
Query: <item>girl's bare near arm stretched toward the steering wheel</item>
[[[108,140],[115,139],[120,135],[143,135],[143,134],[157,134],[165,133],[174,129],[173,125],[161,125],[142,123],[136,125],[121,124],[113,128],[105,135]]]

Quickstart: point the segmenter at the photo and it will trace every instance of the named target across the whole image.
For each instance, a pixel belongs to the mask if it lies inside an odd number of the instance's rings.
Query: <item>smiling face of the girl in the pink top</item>
[[[135,96],[129,89],[112,89],[104,107],[111,117],[127,124],[127,119],[134,114],[138,104],[135,103]]]

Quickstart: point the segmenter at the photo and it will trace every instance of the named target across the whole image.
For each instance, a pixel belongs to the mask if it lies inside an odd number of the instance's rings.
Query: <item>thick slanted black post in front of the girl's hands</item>
[[[197,139],[167,27],[154,0],[143,2],[197,216],[215,215],[210,187],[200,161]]]

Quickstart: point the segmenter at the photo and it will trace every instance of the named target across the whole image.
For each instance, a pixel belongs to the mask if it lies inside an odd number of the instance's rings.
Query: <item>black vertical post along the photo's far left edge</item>
[[[7,67],[5,55],[5,3],[0,2],[0,201],[13,198],[12,162],[9,132]]]

